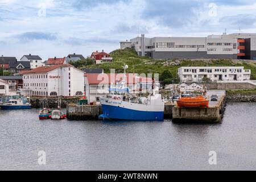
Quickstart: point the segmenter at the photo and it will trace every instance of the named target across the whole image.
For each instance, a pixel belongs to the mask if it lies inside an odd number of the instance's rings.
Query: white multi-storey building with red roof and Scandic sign
[[[24,90],[33,96],[81,96],[84,72],[69,64],[39,67],[20,73]]]

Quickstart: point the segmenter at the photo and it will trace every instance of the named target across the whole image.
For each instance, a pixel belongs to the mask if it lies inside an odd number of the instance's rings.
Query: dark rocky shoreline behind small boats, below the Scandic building
[[[73,99],[61,99],[61,108],[66,108],[68,104],[77,104],[79,100],[77,98]],[[31,107],[40,108],[43,103],[43,98],[31,98]],[[57,98],[47,98],[47,103],[50,108],[56,108],[58,106]]]

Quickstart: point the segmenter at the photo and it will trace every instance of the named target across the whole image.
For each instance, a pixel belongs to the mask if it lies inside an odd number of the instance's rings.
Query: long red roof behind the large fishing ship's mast
[[[98,85],[98,84],[115,84],[123,78],[123,73],[110,74],[110,73],[85,73],[85,77],[88,80],[89,85]],[[128,85],[137,84],[137,82],[152,82],[151,78],[138,77],[137,74],[127,73],[126,81]]]

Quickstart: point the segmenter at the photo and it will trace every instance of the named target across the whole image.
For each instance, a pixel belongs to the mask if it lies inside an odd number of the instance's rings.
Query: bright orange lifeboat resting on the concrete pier
[[[203,96],[181,97],[177,100],[179,107],[208,107],[209,101]]]

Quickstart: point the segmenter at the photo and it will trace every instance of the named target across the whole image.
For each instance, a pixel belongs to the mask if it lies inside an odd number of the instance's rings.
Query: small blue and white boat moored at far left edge
[[[9,98],[9,97],[8,97]],[[0,103],[0,108],[3,110],[10,110],[10,109],[31,109],[31,104],[27,102],[27,99],[24,97],[15,98],[11,97],[10,99],[5,100],[5,102]]]

